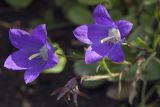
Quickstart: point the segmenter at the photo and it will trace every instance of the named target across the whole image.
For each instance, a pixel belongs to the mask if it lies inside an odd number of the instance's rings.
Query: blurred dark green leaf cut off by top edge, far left
[[[28,7],[32,0],[5,0],[9,5],[15,8],[26,8]]]

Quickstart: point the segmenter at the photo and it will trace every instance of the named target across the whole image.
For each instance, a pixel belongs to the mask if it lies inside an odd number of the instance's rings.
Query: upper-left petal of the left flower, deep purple
[[[10,29],[9,39],[12,45],[19,49],[38,49],[43,45],[39,40],[31,36],[28,32],[20,29]]]

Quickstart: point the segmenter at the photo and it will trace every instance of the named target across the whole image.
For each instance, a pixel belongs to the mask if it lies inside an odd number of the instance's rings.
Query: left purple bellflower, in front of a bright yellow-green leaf
[[[10,29],[9,39],[19,51],[11,54],[4,67],[12,70],[26,70],[25,83],[34,81],[39,74],[58,63],[54,48],[47,41],[46,25],[36,26],[32,33],[21,29]]]

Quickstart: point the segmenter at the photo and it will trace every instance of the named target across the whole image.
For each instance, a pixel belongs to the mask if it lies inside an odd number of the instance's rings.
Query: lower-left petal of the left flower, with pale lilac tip
[[[26,49],[14,52],[6,59],[4,67],[12,70],[24,70],[35,66],[39,64],[39,62],[42,62],[42,58],[40,57],[29,60],[29,57],[35,53],[37,53],[37,51],[28,51]]]

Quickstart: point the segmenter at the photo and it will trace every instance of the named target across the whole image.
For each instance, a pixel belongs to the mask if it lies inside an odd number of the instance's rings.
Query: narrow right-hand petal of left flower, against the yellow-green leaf
[[[55,56],[54,48],[49,43],[47,43],[46,45],[48,48],[48,61],[46,64],[46,68],[51,68],[58,63],[58,57]]]

